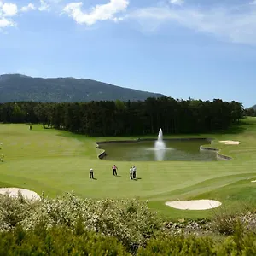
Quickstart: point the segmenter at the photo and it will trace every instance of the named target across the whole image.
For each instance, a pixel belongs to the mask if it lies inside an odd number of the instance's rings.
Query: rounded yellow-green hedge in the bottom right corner
[[[236,224],[234,234],[216,241],[214,236],[160,236],[140,247],[137,256],[180,255],[180,256],[253,256],[256,255],[256,236],[245,232],[242,224]]]

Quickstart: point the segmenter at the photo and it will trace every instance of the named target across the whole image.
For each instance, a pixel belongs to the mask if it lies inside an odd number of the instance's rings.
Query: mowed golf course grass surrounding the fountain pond
[[[165,136],[165,135],[164,135]],[[173,137],[213,137],[212,147],[233,160],[214,162],[112,162],[99,160],[102,149],[96,141],[127,137],[86,137],[67,131],[44,129],[42,125],[0,125],[0,186],[32,189],[39,195],[61,195],[74,191],[90,198],[134,197],[149,200],[149,207],[166,218],[206,218],[208,211],[181,211],[166,207],[166,201],[214,199],[222,207],[236,208],[256,202],[256,119],[242,121],[239,129],[227,134]],[[133,139],[134,137],[129,137]],[[240,145],[224,145],[219,140],[238,140]],[[208,145],[209,146],[209,145]],[[113,177],[111,166],[119,167]],[[131,181],[129,168],[137,166],[137,181]],[[89,169],[96,180],[89,179]]]

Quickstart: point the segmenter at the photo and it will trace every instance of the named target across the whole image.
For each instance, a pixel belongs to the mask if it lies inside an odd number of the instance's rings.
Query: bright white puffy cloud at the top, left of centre
[[[68,3],[63,11],[78,24],[90,26],[95,24],[98,20],[122,20],[122,18],[115,17],[115,15],[119,12],[124,12],[128,5],[128,0],[110,0],[110,2],[106,4],[96,4],[89,13],[86,13],[81,9],[83,6],[82,2]]]

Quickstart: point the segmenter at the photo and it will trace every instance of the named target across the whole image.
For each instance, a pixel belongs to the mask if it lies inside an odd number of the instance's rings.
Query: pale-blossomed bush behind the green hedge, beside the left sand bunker
[[[78,221],[81,229],[118,238],[131,252],[160,230],[159,218],[137,199],[93,201],[67,193],[38,202],[8,196],[0,200],[1,230],[11,230],[18,224],[31,230],[40,222],[47,228],[65,226],[75,230]]]

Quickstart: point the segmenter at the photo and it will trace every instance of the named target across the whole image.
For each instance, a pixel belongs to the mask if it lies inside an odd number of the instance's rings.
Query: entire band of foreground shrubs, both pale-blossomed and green
[[[0,255],[251,256],[256,253],[256,213],[250,214],[216,215],[207,224],[211,233],[202,233],[207,225],[189,231],[192,223],[181,221],[166,228],[136,199],[91,201],[66,194],[26,201],[21,195],[1,195]]]

